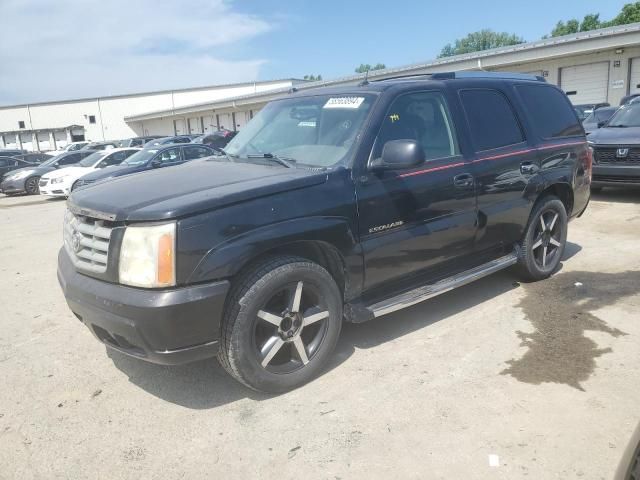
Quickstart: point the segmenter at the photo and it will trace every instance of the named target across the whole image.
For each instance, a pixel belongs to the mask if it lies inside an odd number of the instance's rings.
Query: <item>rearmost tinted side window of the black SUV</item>
[[[565,95],[544,85],[518,85],[518,93],[542,138],[582,135],[582,127]]]

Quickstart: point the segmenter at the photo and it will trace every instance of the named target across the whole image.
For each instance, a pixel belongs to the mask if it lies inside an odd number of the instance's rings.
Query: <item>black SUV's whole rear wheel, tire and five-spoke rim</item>
[[[522,240],[520,274],[525,280],[548,278],[558,268],[567,242],[567,211],[555,196],[536,202]]]

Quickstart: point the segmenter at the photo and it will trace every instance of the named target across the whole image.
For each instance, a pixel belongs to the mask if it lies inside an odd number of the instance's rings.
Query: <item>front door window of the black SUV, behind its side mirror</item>
[[[446,101],[438,92],[401,95],[389,107],[372,158],[379,158],[391,140],[417,140],[425,158],[458,155],[458,142]]]

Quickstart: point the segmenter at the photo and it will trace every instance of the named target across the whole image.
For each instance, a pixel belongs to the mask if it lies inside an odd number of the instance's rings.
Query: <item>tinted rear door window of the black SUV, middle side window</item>
[[[478,151],[524,141],[518,119],[507,98],[497,90],[462,90],[471,140]]]

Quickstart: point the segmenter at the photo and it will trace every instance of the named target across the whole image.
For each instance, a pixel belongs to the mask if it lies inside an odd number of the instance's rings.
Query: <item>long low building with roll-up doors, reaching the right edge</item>
[[[533,73],[559,85],[574,105],[608,102],[617,105],[623,96],[640,93],[640,23],[582,32],[496,48],[426,63],[370,72],[369,80],[399,75],[417,75],[456,70],[489,70]],[[297,85],[298,90],[361,82],[364,75]],[[174,111],[161,110],[129,115],[130,125],[190,117],[247,118],[267,102],[286,95],[289,88],[240,95],[212,102],[187,105]],[[182,119],[182,120],[181,120]],[[139,127],[138,127],[139,128]]]

